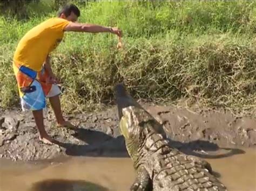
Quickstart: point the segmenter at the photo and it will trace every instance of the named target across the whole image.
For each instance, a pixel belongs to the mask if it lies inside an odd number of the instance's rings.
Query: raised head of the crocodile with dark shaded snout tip
[[[123,84],[115,87],[119,128],[125,138],[126,149],[133,161],[142,154],[142,147],[152,133],[160,133],[165,137],[163,126],[152,117],[126,91]]]

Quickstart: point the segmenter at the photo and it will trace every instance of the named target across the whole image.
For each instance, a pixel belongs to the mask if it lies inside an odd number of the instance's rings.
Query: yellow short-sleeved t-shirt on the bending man
[[[69,23],[62,18],[50,18],[33,27],[19,41],[14,61],[38,72],[42,70],[47,55],[62,41],[63,29]]]

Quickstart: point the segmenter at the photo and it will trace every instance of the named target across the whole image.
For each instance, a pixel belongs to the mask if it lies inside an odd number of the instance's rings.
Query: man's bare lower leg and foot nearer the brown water
[[[45,131],[44,129],[44,117],[43,117],[43,110],[34,110],[32,111],[33,116],[35,118],[36,126],[39,131],[40,139],[44,143],[54,143],[55,140],[52,139]]]

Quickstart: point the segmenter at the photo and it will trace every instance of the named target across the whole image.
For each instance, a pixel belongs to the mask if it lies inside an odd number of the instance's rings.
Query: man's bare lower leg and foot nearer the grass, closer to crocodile
[[[51,107],[53,109],[53,112],[54,112],[56,120],[57,120],[57,126],[68,126],[69,128],[73,128],[74,126],[71,123],[65,121],[65,119],[62,115],[59,95],[49,97],[49,101],[51,103]]]

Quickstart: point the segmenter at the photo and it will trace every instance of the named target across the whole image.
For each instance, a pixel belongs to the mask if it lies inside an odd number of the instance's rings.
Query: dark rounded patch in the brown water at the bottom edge
[[[29,191],[106,191],[103,186],[83,180],[49,179],[33,183]]]

